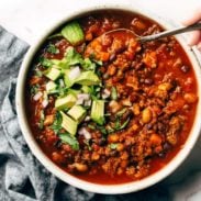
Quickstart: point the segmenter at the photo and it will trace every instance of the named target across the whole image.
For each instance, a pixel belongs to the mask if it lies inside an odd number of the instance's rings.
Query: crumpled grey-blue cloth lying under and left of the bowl
[[[179,178],[176,176],[177,179],[166,179],[152,188],[129,194],[105,196],[82,191],[64,183],[48,172],[30,152],[16,119],[14,103],[16,75],[27,48],[29,45],[25,42],[0,26],[1,201],[168,201],[180,200],[180,198],[185,200],[192,192],[199,191],[201,186],[200,174],[194,171],[194,175],[197,174],[193,176],[194,180],[187,177],[190,170],[196,169],[196,167],[201,169],[198,155],[193,155],[196,157],[190,160],[194,168],[187,168],[188,170],[182,171],[183,174],[180,174]],[[200,147],[198,152],[200,152]],[[180,180],[191,191],[188,191],[183,185],[179,185],[181,188],[178,189],[176,182]],[[192,185],[189,185],[189,180]]]

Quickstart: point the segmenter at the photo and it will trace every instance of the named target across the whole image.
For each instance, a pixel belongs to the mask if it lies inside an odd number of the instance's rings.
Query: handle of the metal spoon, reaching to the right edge
[[[165,31],[165,32],[161,32],[158,34],[142,36],[142,37],[139,37],[139,41],[149,42],[149,41],[158,40],[160,37],[176,35],[176,34],[180,34],[180,33],[185,33],[185,32],[191,32],[191,31],[200,30],[200,29],[201,29],[201,23],[194,23],[194,24],[186,26],[186,27],[179,27],[179,29],[175,29],[175,30]]]

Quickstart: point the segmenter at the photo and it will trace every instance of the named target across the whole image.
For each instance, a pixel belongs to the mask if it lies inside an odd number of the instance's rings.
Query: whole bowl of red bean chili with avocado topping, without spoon
[[[144,44],[170,25],[147,11],[67,14],[26,54],[16,86],[24,138],[55,176],[98,193],[127,193],[170,175],[200,132],[201,70],[181,37]]]

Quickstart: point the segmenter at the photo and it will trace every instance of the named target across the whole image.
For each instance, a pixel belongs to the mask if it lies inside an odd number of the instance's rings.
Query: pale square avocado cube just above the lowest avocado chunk
[[[68,115],[70,115],[74,120],[81,122],[86,115],[86,110],[81,105],[74,105],[69,111]]]

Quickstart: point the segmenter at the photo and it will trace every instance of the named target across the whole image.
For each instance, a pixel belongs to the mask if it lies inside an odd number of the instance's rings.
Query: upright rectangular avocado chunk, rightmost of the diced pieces
[[[104,101],[103,100],[92,101],[91,119],[100,125],[104,123]]]

